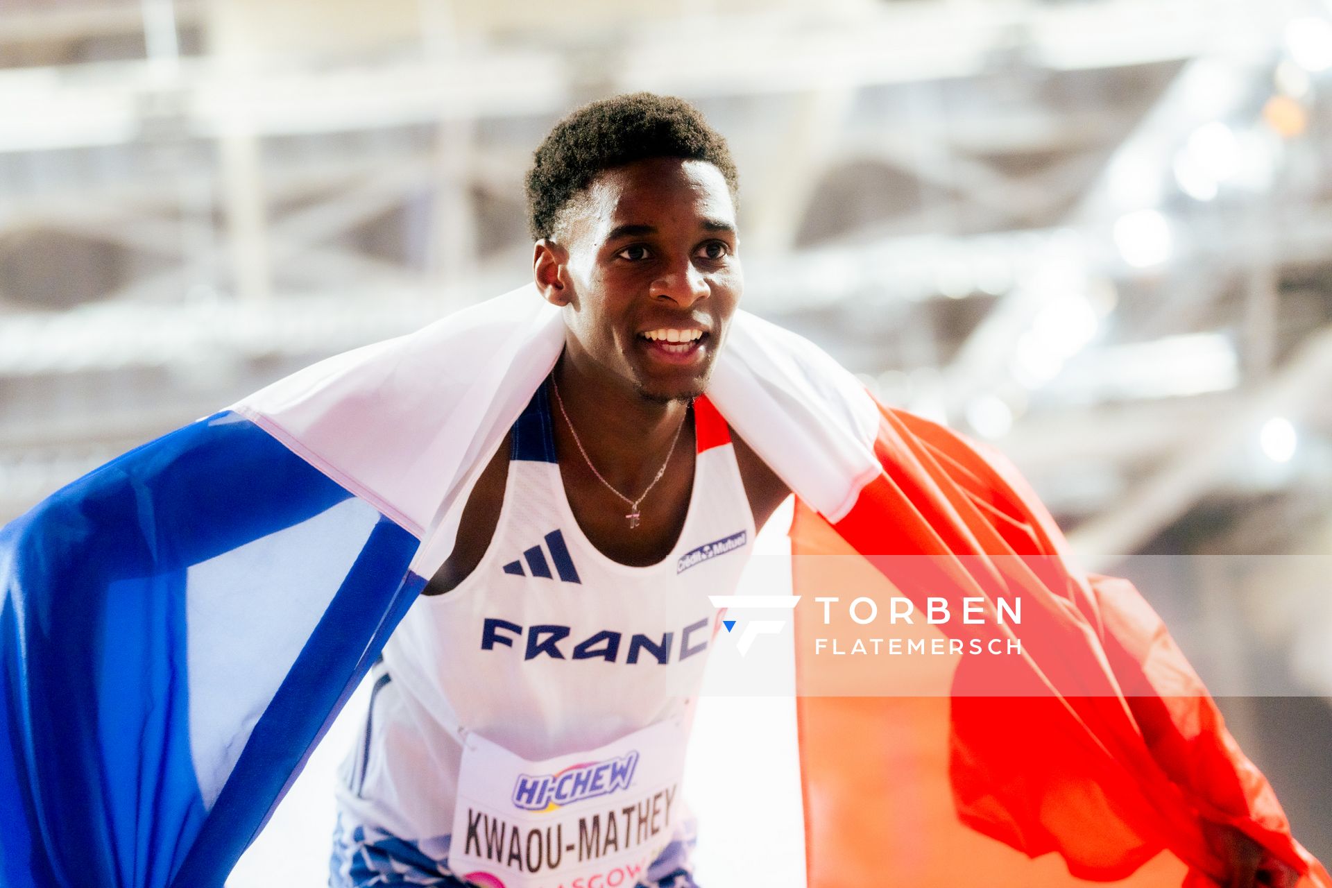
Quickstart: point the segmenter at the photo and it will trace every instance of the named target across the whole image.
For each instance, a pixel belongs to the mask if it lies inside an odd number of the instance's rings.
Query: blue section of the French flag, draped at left
[[[318,602],[305,614],[314,628],[288,639],[294,663],[277,674],[276,694],[256,700],[262,715],[245,736],[238,724],[192,723],[209,708],[198,695],[248,703],[262,682],[244,668],[202,682],[193,646],[264,662],[266,648],[246,644],[272,643],[260,631],[272,612],[242,611],[253,634],[210,638],[210,624],[189,622],[192,571],[244,566],[234,551],[301,539],[282,554],[320,576],[345,541],[321,546],[289,531],[348,499],[262,429],[221,413],[129,451],[0,530],[0,883],[222,884],[424,580],[408,572],[416,538],[382,517],[374,523],[364,506],[372,521],[345,576],[314,595],[292,590],[293,600]],[[225,580],[214,570],[209,582]],[[237,588],[246,582],[236,576]],[[192,744],[205,730],[214,746],[233,736],[221,731],[241,732],[240,755],[221,772],[196,771]],[[204,783],[220,791],[205,793]]]

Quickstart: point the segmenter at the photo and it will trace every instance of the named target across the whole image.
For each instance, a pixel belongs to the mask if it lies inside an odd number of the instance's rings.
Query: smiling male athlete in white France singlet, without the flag
[[[370,674],[338,787],[334,888],[514,884],[458,860],[575,884],[558,875],[585,857],[607,869],[579,884],[693,884],[678,767],[577,835],[542,839],[497,811],[558,813],[639,767],[639,746],[682,751],[714,630],[706,594],[734,588],[790,493],[706,395],[743,290],[735,192],[725,141],[675,99],[594,103],[537,149],[533,277],[563,310],[563,353]],[[679,571],[703,546],[725,554]],[[505,768],[517,784],[488,803],[486,775]],[[1228,888],[1295,884],[1239,831],[1215,844]],[[645,849],[642,871],[615,868]]]

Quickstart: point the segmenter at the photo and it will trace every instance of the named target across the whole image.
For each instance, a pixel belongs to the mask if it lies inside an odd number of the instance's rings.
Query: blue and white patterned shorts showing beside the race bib
[[[698,837],[693,821],[647,868],[647,876],[635,888],[698,888],[690,856]],[[330,888],[381,888],[381,885],[429,885],[430,888],[468,888],[449,871],[448,837],[430,843],[444,852],[436,859],[414,841],[357,824],[340,811],[333,827],[333,855],[329,857]]]

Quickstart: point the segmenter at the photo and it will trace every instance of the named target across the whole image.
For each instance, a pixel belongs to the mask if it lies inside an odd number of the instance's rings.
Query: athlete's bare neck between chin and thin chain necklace
[[[569,421],[597,471],[625,493],[651,483],[679,423],[689,415],[689,403],[645,398],[633,385],[569,349],[554,374]],[[557,406],[557,423],[558,413]],[[574,447],[571,454],[561,451],[561,462],[566,458],[582,455]]]

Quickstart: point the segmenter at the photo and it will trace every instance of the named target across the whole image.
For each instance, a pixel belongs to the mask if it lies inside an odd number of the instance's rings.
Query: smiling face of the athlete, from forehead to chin
[[[735,206],[706,161],[657,157],[601,173],[537,242],[565,306],[571,358],[650,401],[697,397],[743,289]]]

